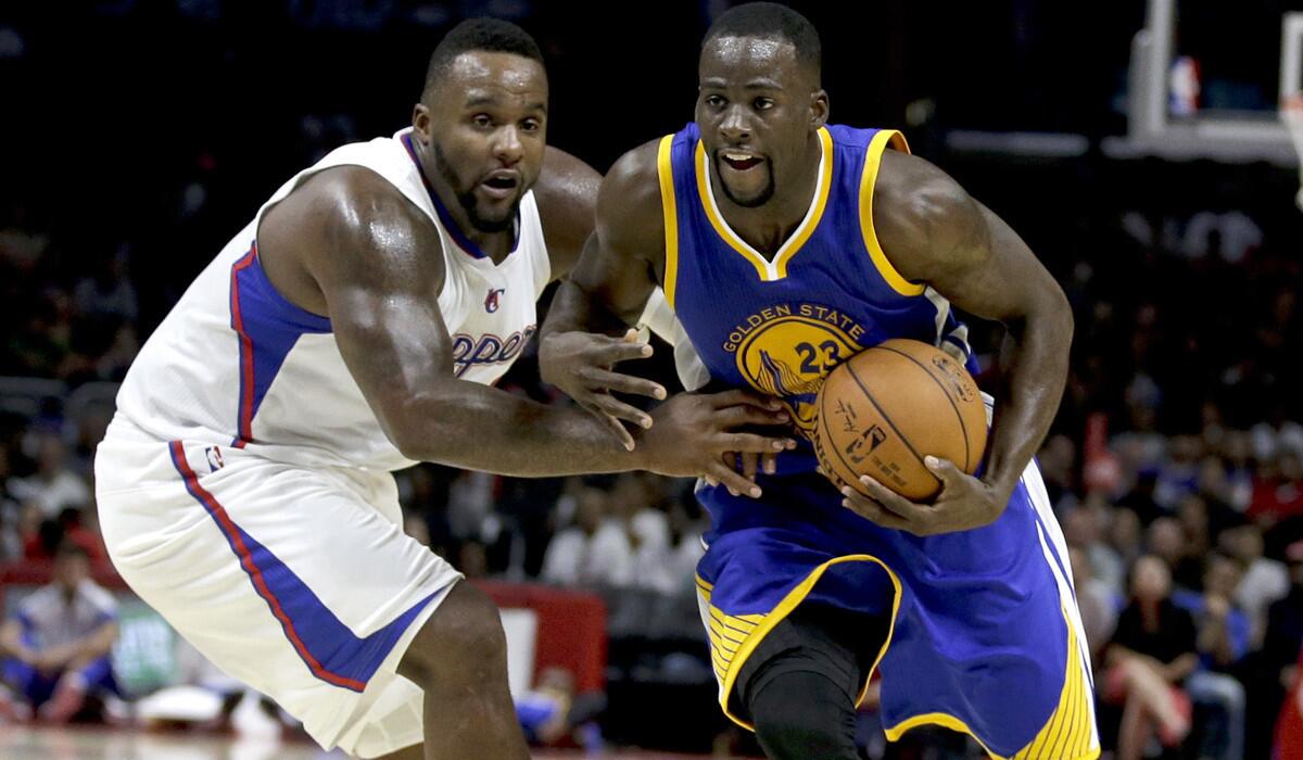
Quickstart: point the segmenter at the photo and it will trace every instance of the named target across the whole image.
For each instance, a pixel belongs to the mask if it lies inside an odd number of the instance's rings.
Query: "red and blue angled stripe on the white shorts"
[[[267,602],[285,637],[311,674],[326,683],[364,691],[416,617],[434,594],[422,598],[370,636],[358,637],[270,549],[231,519],[225,507],[199,484],[180,441],[168,445],[185,489],[208,512],[227,538],[254,592]]]

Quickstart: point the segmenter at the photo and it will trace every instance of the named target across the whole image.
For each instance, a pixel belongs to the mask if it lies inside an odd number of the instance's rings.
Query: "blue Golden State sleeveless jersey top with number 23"
[[[723,219],[697,126],[661,143],[666,192],[666,301],[711,378],[787,404],[813,429],[814,395],[837,364],[889,338],[947,348],[976,366],[967,329],[932,288],[906,280],[873,231],[882,151],[908,150],[899,132],[820,129],[823,158],[809,211],[766,259]],[[672,206],[672,215],[670,207]],[[809,467],[809,461],[804,463]]]

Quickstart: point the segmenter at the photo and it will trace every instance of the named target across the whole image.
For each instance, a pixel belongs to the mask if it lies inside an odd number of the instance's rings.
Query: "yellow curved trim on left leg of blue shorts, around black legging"
[[[814,584],[823,575],[829,567],[834,564],[840,564],[843,562],[873,562],[882,567],[891,579],[891,587],[895,593],[891,597],[891,624],[887,627],[887,636],[882,641],[882,648],[878,649],[878,656],[873,658],[873,667],[864,677],[864,686],[860,687],[860,695],[855,699],[855,707],[859,707],[864,701],[864,696],[869,691],[869,682],[873,679],[873,673],[878,669],[878,664],[882,662],[882,657],[887,653],[887,647],[891,645],[891,636],[895,634],[896,613],[900,610],[900,579],[896,576],[895,571],[887,567],[886,562],[882,562],[877,557],[870,554],[847,554],[844,557],[834,557],[823,564],[820,564],[805,576],[796,588],[787,592],[778,605],[765,615],[728,615],[710,604],[710,593],[713,587],[697,576],[697,591],[701,593],[702,600],[706,602],[706,634],[710,637],[710,660],[715,670],[715,677],[721,682],[719,688],[719,708],[728,716],[728,720],[737,723],[739,726],[747,729],[748,731],[754,731],[756,726],[748,723],[747,721],[732,714],[728,709],[728,697],[732,695],[734,682],[737,680],[737,674],[741,671],[741,666],[751,657],[751,653],[756,650],[761,640],[774,626],[780,623],[783,618],[790,615],[792,610],[796,609],[805,597],[809,596]]]

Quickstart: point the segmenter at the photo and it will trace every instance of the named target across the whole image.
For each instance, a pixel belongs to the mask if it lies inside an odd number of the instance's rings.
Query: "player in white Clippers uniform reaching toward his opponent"
[[[722,454],[790,443],[734,431],[786,418],[741,392],[670,399],[633,448],[582,411],[490,387],[593,229],[598,176],[545,147],[546,123],[528,34],[452,30],[410,129],[293,177],[195,279],[99,447],[122,577],[323,747],[528,756],[496,609],[403,534],[390,471],[645,468],[747,488]],[[610,365],[650,349],[599,351]]]

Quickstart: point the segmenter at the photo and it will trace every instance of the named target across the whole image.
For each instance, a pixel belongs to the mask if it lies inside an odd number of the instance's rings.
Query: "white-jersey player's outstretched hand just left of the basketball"
[[[760,486],[724,464],[726,454],[778,454],[796,447],[787,435],[741,431],[741,428],[786,426],[788,415],[778,399],[751,391],[679,394],[652,409],[655,422],[638,433],[638,463],[644,469],[678,477],[704,477],[728,490],[758,497]]]

